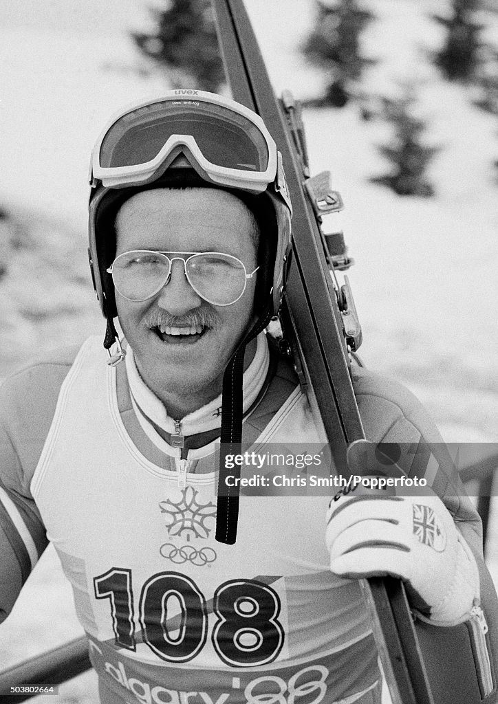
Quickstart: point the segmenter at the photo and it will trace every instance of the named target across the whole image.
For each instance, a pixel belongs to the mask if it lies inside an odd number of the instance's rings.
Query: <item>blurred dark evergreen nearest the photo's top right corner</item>
[[[480,0],[452,0],[449,18],[432,15],[446,30],[444,46],[435,54],[435,63],[449,80],[471,80],[478,70],[484,26],[475,22],[479,8]]]

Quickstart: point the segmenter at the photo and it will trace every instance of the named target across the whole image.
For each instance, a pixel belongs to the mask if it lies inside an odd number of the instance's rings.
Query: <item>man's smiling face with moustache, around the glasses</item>
[[[135,249],[225,252],[250,273],[257,266],[255,227],[247,206],[227,191],[142,191],[119,210],[116,256]],[[253,319],[256,275],[230,306],[204,301],[180,260],[173,261],[168,283],[147,301],[128,301],[116,291],[120,325],[140,375],[166,408],[188,413],[220,394],[225,366]],[[249,356],[251,351],[252,346]]]

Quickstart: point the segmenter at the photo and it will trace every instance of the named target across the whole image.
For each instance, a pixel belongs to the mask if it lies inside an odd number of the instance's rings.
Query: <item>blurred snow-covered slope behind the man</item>
[[[89,153],[111,113],[168,87],[163,76],[137,73],[142,59],[128,37],[147,27],[151,4],[0,0],[0,379],[39,351],[104,334],[86,258]],[[277,92],[316,95],[323,79],[295,49],[313,22],[311,1],[246,4]],[[496,442],[497,120],[423,56],[442,39],[427,17],[441,0],[368,7],[377,20],[364,51],[380,61],[366,88],[392,94],[399,80],[420,80],[427,141],[444,149],[429,172],[435,198],[402,198],[367,181],[387,168],[375,149],[385,126],[362,122],[354,106],[305,113],[312,170],[332,170],[347,206],[340,217],[356,260],[360,354],[409,386],[448,441]],[[498,46],[496,23],[487,38]],[[497,539],[492,532],[492,558]],[[80,632],[47,551],[0,629],[0,667]],[[95,701],[93,675],[61,691],[61,702]]]

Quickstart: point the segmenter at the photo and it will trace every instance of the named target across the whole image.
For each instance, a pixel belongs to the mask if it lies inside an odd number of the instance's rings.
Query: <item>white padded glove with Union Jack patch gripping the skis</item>
[[[479,597],[475,558],[437,496],[340,496],[327,513],[330,569],[340,577],[399,577],[432,622],[470,617]]]

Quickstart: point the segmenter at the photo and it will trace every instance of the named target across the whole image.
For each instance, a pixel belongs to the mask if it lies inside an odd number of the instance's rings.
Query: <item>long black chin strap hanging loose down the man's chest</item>
[[[271,302],[268,303],[259,320],[249,329],[242,342],[233,353],[223,375],[223,397],[221,405],[220,472],[218,474],[218,503],[216,508],[216,540],[218,543],[233,545],[237,540],[239,517],[239,485],[228,486],[228,474],[240,477],[240,465],[231,470],[225,466],[227,455],[242,452],[242,381],[244,376],[244,353],[249,340],[253,339],[268,325],[272,315]]]

